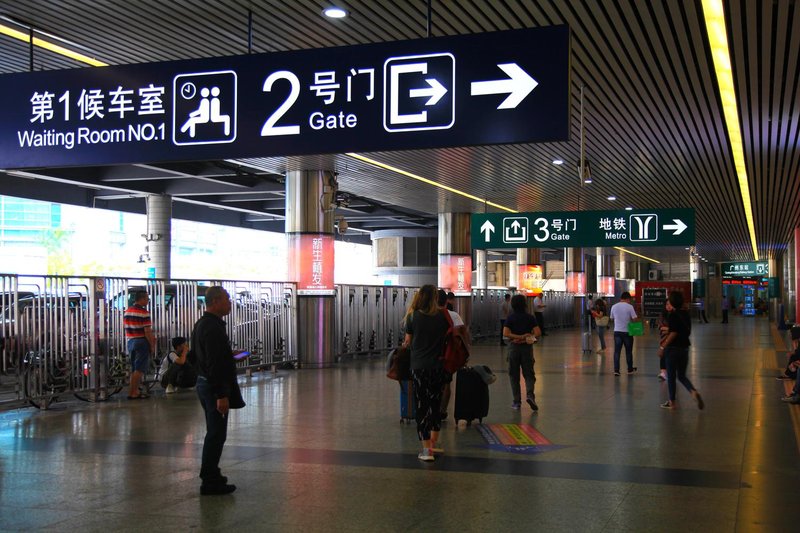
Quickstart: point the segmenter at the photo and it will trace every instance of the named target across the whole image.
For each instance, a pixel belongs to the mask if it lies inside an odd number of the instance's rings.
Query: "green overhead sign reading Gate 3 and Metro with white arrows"
[[[472,248],[690,246],[694,209],[472,215]]]

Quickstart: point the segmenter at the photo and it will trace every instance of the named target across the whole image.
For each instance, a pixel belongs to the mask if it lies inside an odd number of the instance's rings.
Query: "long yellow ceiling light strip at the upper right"
[[[717,73],[719,96],[722,102],[722,110],[725,114],[725,125],[728,128],[728,138],[731,141],[733,164],[736,167],[736,176],[739,179],[742,206],[747,219],[747,228],[750,230],[750,243],[753,246],[753,256],[758,261],[753,206],[750,203],[750,184],[747,180],[747,168],[744,164],[744,145],[742,143],[742,134],[739,130],[739,108],[736,103],[736,89],[733,84],[731,54],[728,49],[728,35],[725,31],[725,11],[722,0],[703,0],[703,17],[706,21],[708,42],[711,45],[711,56],[714,58],[714,70]]]

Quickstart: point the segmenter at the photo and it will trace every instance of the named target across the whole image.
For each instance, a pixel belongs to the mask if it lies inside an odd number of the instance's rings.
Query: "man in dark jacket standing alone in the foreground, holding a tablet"
[[[206,418],[200,466],[200,494],[230,494],[236,485],[222,475],[219,461],[228,435],[228,412],[244,407],[236,363],[223,317],[231,312],[228,292],[219,286],[206,291],[206,311],[195,323],[192,347],[197,361],[197,396]]]

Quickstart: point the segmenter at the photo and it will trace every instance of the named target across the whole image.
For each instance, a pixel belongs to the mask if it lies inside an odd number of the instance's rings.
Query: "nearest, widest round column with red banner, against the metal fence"
[[[286,234],[290,276],[298,282],[297,340],[300,365],[333,366],[333,241],[336,178],[329,170],[286,173]]]

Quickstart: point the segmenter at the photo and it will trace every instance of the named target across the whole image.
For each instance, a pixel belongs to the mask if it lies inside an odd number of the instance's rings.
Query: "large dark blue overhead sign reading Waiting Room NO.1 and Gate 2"
[[[0,76],[0,168],[563,141],[566,26]]]

